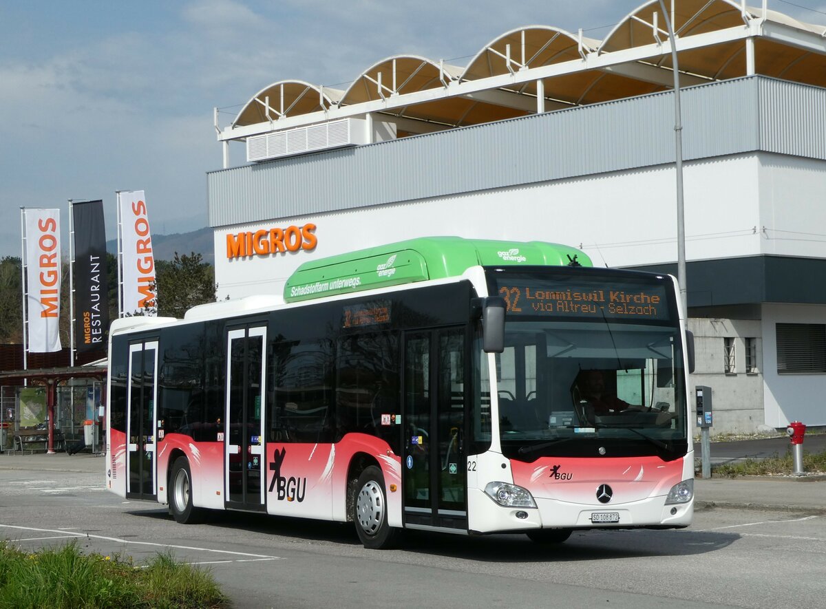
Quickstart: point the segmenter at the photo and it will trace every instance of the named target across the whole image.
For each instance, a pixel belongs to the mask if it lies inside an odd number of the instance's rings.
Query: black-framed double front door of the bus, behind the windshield
[[[401,468],[409,528],[468,528],[464,361],[464,328],[406,334]]]

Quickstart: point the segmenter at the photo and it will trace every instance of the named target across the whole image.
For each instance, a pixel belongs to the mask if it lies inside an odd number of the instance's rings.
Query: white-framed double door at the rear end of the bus
[[[129,388],[126,399],[126,497],[157,499],[158,342],[129,346]]]

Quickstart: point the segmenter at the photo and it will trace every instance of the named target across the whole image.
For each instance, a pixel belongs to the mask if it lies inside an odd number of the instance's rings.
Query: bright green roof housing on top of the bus
[[[561,267],[574,259],[583,267],[592,266],[581,250],[556,243],[422,237],[305,262],[287,280],[284,300],[444,279],[479,265]]]

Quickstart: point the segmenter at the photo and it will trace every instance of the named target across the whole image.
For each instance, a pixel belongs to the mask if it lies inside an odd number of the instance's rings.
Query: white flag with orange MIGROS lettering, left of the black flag
[[[60,210],[23,210],[30,353],[60,351]]]

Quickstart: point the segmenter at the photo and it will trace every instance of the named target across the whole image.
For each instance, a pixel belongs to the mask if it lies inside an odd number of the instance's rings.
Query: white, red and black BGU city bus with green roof
[[[552,243],[415,238],[306,262],[283,295],[112,323],[107,488],[181,523],[354,522],[374,549],[405,529],[685,527],[684,314],[672,276]]]

